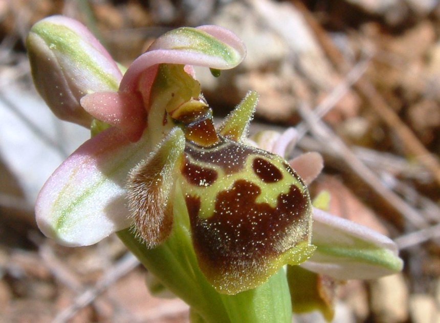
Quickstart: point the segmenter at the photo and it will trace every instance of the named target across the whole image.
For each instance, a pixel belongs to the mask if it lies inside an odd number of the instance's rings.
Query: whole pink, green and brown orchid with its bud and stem
[[[214,126],[192,66],[237,66],[246,50],[232,32],[169,31],[124,74],[67,17],[39,21],[27,46],[43,99],[93,135],[41,189],[36,219],[50,238],[85,246],[116,232],[193,321],[290,321],[284,265],[337,279],[401,270],[391,240],[312,206],[306,184],[322,159],[285,161],[294,132],[250,144],[255,92]]]

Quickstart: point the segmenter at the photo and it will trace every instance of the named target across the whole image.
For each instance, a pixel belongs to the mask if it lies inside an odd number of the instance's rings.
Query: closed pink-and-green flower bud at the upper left
[[[26,40],[34,83],[54,114],[89,127],[82,96],[118,89],[122,74],[99,41],[78,21],[51,16],[36,23]]]

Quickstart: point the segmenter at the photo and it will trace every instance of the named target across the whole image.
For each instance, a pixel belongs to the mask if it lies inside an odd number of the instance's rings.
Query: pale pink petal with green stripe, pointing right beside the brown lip
[[[372,279],[402,270],[397,245],[360,224],[313,210],[316,252],[300,266],[336,279]]]

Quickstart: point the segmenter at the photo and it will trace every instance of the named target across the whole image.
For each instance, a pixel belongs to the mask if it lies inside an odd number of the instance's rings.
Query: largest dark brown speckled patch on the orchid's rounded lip
[[[200,198],[186,197],[193,244],[203,270],[240,271],[267,262],[293,246],[280,246],[293,227],[306,220],[307,192],[291,185],[280,194],[275,208],[256,203],[261,189],[246,180],[218,193],[213,216],[198,216]],[[305,232],[304,232],[305,233]]]

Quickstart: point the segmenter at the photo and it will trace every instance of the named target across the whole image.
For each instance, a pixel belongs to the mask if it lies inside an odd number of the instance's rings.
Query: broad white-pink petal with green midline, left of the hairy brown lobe
[[[41,189],[35,207],[41,231],[63,245],[85,246],[128,227],[124,185],[147,145],[147,136],[130,143],[114,127],[87,140]]]

